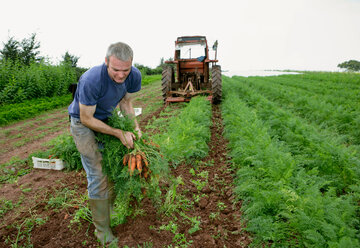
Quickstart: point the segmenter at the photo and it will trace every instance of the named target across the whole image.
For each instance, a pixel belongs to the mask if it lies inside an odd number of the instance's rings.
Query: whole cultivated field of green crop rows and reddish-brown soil
[[[134,107],[169,174],[118,203],[119,247],[360,247],[359,74],[224,76],[214,106],[164,107],[160,85]],[[0,138],[0,247],[101,247],[84,171],[32,168],[32,154],[72,149],[66,107]]]

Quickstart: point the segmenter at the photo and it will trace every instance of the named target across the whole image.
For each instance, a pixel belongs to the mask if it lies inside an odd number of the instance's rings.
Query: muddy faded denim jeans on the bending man
[[[94,131],[81,124],[80,119],[75,117],[71,117],[70,131],[86,171],[89,198],[108,199],[110,183],[107,176],[102,173],[102,154]]]

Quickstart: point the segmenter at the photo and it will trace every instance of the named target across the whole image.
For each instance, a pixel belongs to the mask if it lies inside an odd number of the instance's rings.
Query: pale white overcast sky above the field
[[[218,64],[229,71],[336,71],[360,60],[360,0],[6,0],[1,8],[1,49],[36,33],[53,63],[69,51],[79,66],[98,65],[123,41],[135,63],[155,68],[184,35],[218,40]]]

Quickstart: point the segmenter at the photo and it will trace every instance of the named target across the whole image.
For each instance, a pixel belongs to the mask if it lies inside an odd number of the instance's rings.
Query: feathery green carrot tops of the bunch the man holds
[[[120,117],[115,111],[109,118],[108,125],[123,131],[133,132],[136,135],[133,120],[128,116]],[[97,138],[103,145],[101,149],[103,173],[113,182],[113,189],[117,196],[118,218],[115,218],[117,223],[113,223],[113,225],[116,225],[123,223],[125,221],[124,217],[131,214],[131,203],[133,200],[140,202],[144,197],[143,192],[146,191],[149,198],[154,201],[157,200],[158,195],[161,194],[159,180],[167,176],[168,163],[157,147],[151,144],[149,137],[145,133],[141,139],[137,138],[135,140],[135,151],[126,148],[114,136],[98,134]],[[147,178],[140,177],[140,172],[137,170],[130,174],[128,166],[123,164],[123,158],[126,154],[140,151],[145,154],[151,170],[150,176]]]

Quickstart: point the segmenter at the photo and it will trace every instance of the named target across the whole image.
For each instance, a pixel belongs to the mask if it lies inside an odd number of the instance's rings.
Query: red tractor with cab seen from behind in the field
[[[210,60],[205,36],[177,38],[174,60],[165,61],[166,64],[171,65],[166,66],[162,72],[162,92],[165,104],[187,102],[196,95],[208,95],[209,100],[215,104],[221,101],[221,67],[216,65],[218,62],[216,60],[217,41],[213,49],[215,59]],[[211,75],[210,63],[212,64]]]

